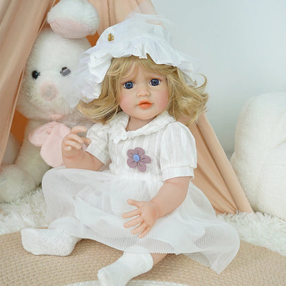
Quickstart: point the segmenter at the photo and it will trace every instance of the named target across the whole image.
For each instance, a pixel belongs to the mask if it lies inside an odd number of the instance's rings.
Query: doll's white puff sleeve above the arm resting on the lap
[[[184,124],[168,124],[162,136],[160,166],[164,181],[172,177],[194,177],[194,168],[197,168],[195,138]]]

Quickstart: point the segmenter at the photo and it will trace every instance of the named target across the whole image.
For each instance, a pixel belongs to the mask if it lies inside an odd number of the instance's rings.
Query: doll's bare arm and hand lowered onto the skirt
[[[135,210],[122,214],[124,219],[135,217],[131,221],[124,223],[125,228],[137,225],[132,233],[138,234],[142,238],[153,227],[157,219],[173,212],[186,198],[190,177],[175,177],[164,181],[164,185],[159,189],[157,195],[150,201],[136,201],[129,199],[127,202],[131,206],[136,206]]]

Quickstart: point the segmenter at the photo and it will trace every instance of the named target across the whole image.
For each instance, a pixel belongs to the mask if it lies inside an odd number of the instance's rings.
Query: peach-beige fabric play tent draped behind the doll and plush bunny
[[[89,0],[100,14],[100,34],[109,25],[122,21],[144,0]],[[154,11],[151,1],[150,11]],[[0,162],[10,130],[23,133],[19,121],[13,123],[15,106],[25,62],[36,36],[41,31],[47,12],[56,0],[1,0],[0,1]],[[107,5],[109,3],[109,5]],[[108,8],[109,6],[109,8]],[[97,37],[89,39],[93,45]],[[11,129],[12,126],[12,129]],[[214,209],[235,213],[252,212],[250,203],[239,184],[217,136],[206,115],[195,126],[189,126],[197,142],[198,167],[194,183],[203,190]],[[1,190],[0,190],[1,192]]]

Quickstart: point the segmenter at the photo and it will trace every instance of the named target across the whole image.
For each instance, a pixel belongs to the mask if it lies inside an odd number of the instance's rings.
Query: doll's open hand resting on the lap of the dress
[[[151,230],[157,219],[159,219],[159,208],[152,201],[135,201],[135,199],[129,199],[127,203],[137,208],[131,210],[131,212],[122,214],[124,219],[135,217],[131,221],[124,223],[124,227],[130,228],[137,225],[137,228],[132,230],[132,234],[139,233],[138,236],[142,238]]]

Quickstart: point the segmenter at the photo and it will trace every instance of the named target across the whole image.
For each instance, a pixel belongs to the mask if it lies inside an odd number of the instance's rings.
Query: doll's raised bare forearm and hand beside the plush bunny
[[[66,168],[80,168],[86,170],[99,170],[103,163],[91,153],[82,149],[82,144],[91,143],[87,137],[80,137],[79,132],[86,132],[85,126],[75,126],[72,131],[65,136],[62,143],[63,162]]]

